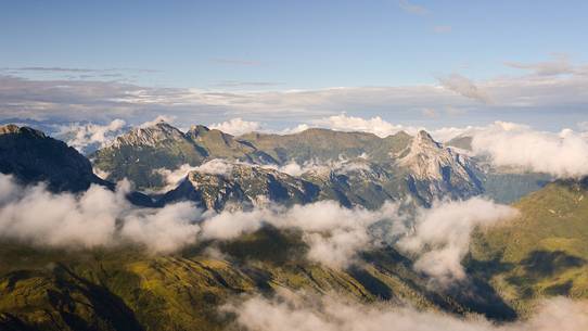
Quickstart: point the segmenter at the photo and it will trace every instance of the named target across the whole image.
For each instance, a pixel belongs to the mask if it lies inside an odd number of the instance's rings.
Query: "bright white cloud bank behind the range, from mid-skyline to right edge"
[[[394,125],[380,117],[360,118],[345,114],[314,123],[333,130],[370,132],[382,138],[399,131],[414,135],[424,129]],[[495,166],[546,173],[559,178],[588,175],[587,132],[577,132],[570,128],[560,132],[547,132],[508,122],[495,122],[478,127],[446,127],[430,132],[442,142],[456,137],[471,137],[473,154],[488,156]]]

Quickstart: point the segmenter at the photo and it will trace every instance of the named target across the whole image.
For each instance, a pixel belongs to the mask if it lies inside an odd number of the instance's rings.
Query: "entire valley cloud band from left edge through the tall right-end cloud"
[[[334,201],[203,213],[188,202],[136,207],[125,199],[129,191],[123,181],[114,192],[92,186],[78,195],[54,194],[42,184],[22,188],[0,175],[0,238],[78,249],[130,242],[153,253],[169,253],[203,239],[231,240],[271,225],[299,230],[309,247],[307,258],[333,268],[347,267],[360,252],[399,240],[398,246],[417,258],[416,269],[443,284],[465,277],[460,262],[475,227],[516,214],[480,198],[436,203],[419,209],[414,219],[397,203],[369,211],[345,208]]]

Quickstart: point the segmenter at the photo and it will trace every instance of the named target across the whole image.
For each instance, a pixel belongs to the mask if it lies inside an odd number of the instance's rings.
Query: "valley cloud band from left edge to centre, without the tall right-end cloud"
[[[394,204],[371,212],[344,208],[332,201],[220,214],[203,214],[188,202],[139,208],[125,199],[129,191],[129,183],[123,181],[114,192],[92,186],[78,195],[54,194],[42,184],[22,188],[10,176],[0,175],[0,238],[77,249],[131,242],[154,253],[169,253],[201,239],[230,240],[272,225],[302,230],[310,260],[344,267],[359,251],[371,247],[371,225],[397,215]]]

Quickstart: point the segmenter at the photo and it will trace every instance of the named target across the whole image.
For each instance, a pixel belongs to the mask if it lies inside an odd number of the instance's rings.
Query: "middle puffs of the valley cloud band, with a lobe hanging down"
[[[265,224],[280,229],[299,229],[309,245],[308,258],[334,268],[355,262],[357,253],[373,247],[369,227],[385,219],[398,219],[397,205],[386,203],[371,212],[361,207],[345,208],[333,201],[322,201],[291,208],[269,206],[253,211],[226,211],[202,222],[207,239],[233,239],[255,232]],[[395,222],[393,232],[405,231]],[[391,234],[392,235],[392,234]]]

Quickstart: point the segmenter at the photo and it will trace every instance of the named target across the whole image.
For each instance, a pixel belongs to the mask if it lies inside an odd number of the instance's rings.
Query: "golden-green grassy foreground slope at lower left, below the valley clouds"
[[[220,305],[278,288],[464,311],[429,292],[394,254],[337,270],[305,262],[306,247],[296,238],[264,230],[218,244],[233,256],[229,260],[207,257],[203,247],[146,256],[132,247],[64,252],[4,243],[0,329],[219,330],[228,324]]]

